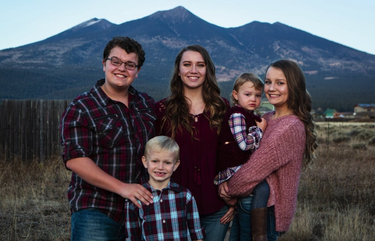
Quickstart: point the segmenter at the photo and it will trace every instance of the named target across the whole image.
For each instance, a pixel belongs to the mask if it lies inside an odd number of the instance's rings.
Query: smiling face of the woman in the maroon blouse
[[[202,88],[206,79],[206,64],[196,51],[185,51],[181,56],[179,73],[184,89]]]

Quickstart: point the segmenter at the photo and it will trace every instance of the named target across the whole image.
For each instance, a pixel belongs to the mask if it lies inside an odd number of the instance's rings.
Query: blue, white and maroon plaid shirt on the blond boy
[[[191,192],[172,179],[162,190],[153,189],[146,176],[142,185],[149,190],[153,204],[136,207],[125,202],[125,228],[127,241],[135,240],[200,240],[205,238],[205,229],[199,221],[198,208]]]

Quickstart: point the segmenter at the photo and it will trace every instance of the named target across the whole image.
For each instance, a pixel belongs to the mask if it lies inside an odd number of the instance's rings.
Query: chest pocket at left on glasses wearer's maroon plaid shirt
[[[95,132],[98,146],[113,148],[125,142],[124,126],[117,114],[96,118]]]

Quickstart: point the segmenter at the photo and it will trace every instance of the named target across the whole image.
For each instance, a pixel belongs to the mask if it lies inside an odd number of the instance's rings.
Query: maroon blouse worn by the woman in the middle
[[[166,99],[156,103],[155,124],[156,135],[171,136],[169,124],[161,128],[161,119],[165,115]],[[228,105],[228,101],[225,100]],[[175,141],[180,146],[180,166],[172,177],[178,184],[192,192],[199,214],[209,214],[219,211],[224,202],[217,194],[217,186],[213,180],[216,175],[216,152],[218,144],[217,129],[211,129],[210,123],[203,114],[192,118],[192,126],[198,131],[195,135],[198,140],[191,138],[185,129],[177,130]],[[196,120],[196,121],[195,121]]]

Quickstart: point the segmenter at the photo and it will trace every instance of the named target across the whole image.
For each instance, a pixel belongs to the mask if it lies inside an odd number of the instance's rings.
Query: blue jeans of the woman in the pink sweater
[[[251,204],[253,196],[240,198],[237,207],[237,214],[234,216],[229,241],[252,240],[251,234]],[[276,232],[274,207],[268,208],[267,214],[267,238],[277,240],[279,232]]]

